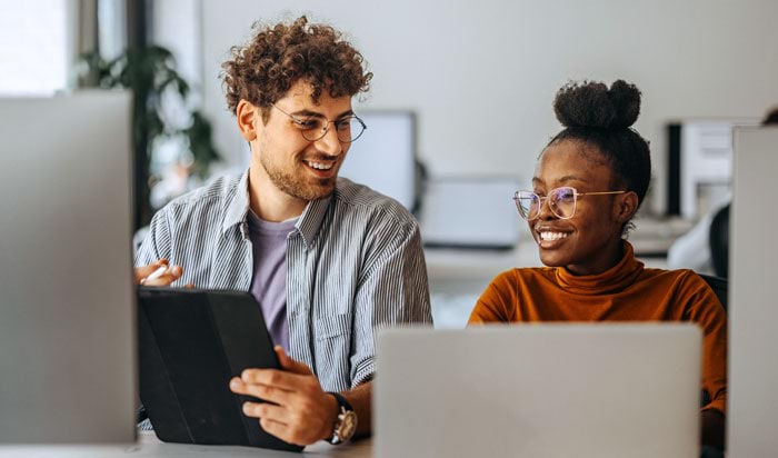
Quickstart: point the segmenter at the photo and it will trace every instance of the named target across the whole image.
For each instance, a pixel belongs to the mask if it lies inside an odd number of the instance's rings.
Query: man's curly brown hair
[[[291,24],[255,23],[255,34],[242,47],[231,48],[222,63],[227,106],[235,113],[241,99],[260,107],[268,121],[270,106],[299,80],[310,82],[313,102],[323,90],[330,97],[355,96],[370,87],[362,54],[327,24],[309,24],[305,16]]]

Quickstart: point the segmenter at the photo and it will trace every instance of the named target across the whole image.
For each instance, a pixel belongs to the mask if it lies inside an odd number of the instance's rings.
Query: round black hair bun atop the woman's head
[[[569,82],[557,92],[553,111],[565,127],[626,129],[640,114],[640,90],[624,80]]]

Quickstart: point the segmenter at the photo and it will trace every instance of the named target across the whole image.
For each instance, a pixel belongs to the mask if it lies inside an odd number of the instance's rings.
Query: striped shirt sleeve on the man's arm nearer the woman
[[[368,256],[355,297],[351,387],[376,371],[376,333],[385,327],[432,325],[427,267],[417,223],[395,230]]]

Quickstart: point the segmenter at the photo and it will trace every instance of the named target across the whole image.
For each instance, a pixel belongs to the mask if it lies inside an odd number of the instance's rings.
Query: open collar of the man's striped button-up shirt
[[[333,191],[333,193],[337,191]],[[312,246],[316,236],[319,233],[321,223],[332,201],[333,193],[308,202],[306,209],[302,210],[302,215],[300,215],[300,218],[295,225],[295,229],[302,236],[307,248]],[[247,225],[249,202],[249,171],[247,170],[240,177],[236,193],[227,206],[225,222],[221,227],[222,233],[231,230],[236,225]]]

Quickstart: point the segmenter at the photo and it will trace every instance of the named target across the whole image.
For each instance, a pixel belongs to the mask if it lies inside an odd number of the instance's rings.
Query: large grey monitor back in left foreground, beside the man
[[[0,442],[134,440],[130,107],[0,99]]]

